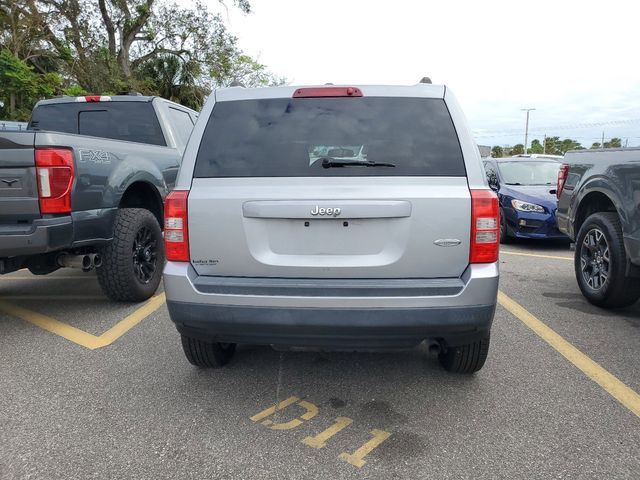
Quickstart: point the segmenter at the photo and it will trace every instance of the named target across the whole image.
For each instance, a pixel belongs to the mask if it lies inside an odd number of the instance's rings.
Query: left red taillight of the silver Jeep
[[[164,202],[164,249],[167,260],[189,261],[188,190],[174,190]]]

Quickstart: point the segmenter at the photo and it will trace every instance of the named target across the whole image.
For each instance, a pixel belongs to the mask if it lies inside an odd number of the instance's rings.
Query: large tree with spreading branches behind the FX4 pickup
[[[226,3],[251,9],[249,0]],[[42,87],[59,72],[57,93],[140,91],[198,108],[216,86],[284,81],[244,54],[223,18],[199,1],[0,0],[0,49],[32,67]],[[15,100],[29,109],[37,98]]]

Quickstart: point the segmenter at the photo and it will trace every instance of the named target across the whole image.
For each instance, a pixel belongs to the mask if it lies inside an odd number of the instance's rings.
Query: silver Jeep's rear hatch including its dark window
[[[471,200],[441,98],[224,101],[188,203],[200,275],[451,278]]]

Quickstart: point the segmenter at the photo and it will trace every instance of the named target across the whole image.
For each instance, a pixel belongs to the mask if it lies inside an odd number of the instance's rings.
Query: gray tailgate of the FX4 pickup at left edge
[[[0,226],[28,225],[40,218],[34,132],[0,132]]]

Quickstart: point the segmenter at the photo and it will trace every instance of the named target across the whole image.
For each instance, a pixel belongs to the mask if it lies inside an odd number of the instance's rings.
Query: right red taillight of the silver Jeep
[[[498,261],[500,245],[500,209],[491,190],[471,190],[470,263]]]

